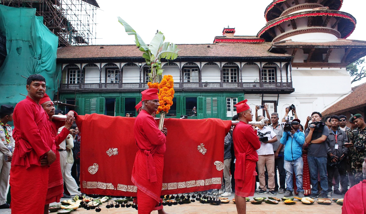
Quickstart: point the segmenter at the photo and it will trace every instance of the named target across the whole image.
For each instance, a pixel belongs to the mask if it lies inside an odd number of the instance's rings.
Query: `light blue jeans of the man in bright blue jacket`
[[[286,161],[284,163],[284,168],[286,170],[286,185],[288,191],[293,191],[294,189],[294,173],[296,175],[296,186],[298,192],[304,192],[302,188],[302,169],[304,162],[302,157],[296,159],[295,161]]]

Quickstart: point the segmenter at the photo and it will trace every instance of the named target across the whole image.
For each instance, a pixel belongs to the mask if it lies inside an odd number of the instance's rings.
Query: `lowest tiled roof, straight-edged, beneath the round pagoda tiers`
[[[292,40],[285,40],[285,41],[279,41],[279,42],[275,42],[273,43],[273,47],[299,47],[299,46],[309,46],[309,47],[313,47],[313,46],[344,46],[344,47],[348,47],[348,46],[361,46],[361,47],[365,47],[366,48],[366,41],[362,41],[362,40],[349,40],[349,39],[337,39],[336,41],[329,41],[329,42],[323,42],[323,43],[309,43],[309,42],[294,42]]]

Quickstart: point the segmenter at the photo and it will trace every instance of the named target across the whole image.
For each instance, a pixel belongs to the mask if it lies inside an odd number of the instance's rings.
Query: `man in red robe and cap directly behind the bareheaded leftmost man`
[[[40,100],[40,104],[43,109],[46,111],[49,117],[49,123],[51,125],[51,133],[52,138],[55,139],[56,145],[56,161],[53,162],[49,167],[48,173],[48,190],[46,195],[46,202],[44,207],[44,214],[48,214],[49,204],[53,202],[60,202],[60,198],[63,197],[64,192],[64,183],[61,174],[61,166],[60,166],[60,143],[66,139],[68,134],[70,133],[70,128],[72,123],[74,122],[74,111],[70,111],[67,114],[67,119],[65,121],[53,121],[52,116],[55,115],[55,104],[49,98],[47,94],[45,94]],[[76,112],[75,112],[76,114]],[[76,114],[77,115],[77,114]],[[60,134],[57,135],[57,132],[61,126],[65,126]]]

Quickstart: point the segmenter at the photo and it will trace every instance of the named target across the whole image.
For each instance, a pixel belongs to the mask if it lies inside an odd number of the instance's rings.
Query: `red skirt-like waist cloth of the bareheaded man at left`
[[[48,185],[48,166],[12,166],[10,185],[12,214],[43,214]]]

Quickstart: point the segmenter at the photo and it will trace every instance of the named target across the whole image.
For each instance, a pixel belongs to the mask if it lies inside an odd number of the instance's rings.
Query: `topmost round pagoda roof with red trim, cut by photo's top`
[[[264,18],[267,22],[280,17],[279,14],[281,14],[282,11],[279,10],[278,6],[280,6],[284,1],[287,0],[273,0],[272,3],[266,7],[266,10],[264,11]],[[342,3],[343,0],[326,1],[324,7],[329,7],[329,10],[340,10]]]

